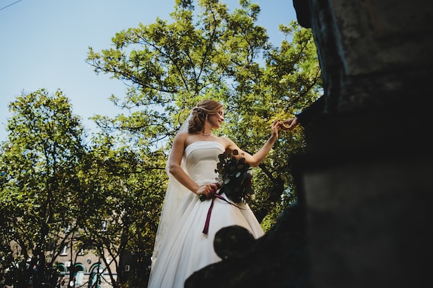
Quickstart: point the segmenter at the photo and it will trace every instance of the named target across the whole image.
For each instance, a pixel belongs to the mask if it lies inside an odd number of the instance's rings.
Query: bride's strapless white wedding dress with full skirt
[[[185,172],[199,185],[216,182],[218,155],[224,148],[218,142],[194,142],[185,148]],[[167,193],[169,191],[167,190]],[[223,194],[221,194],[227,199]],[[167,199],[168,195],[166,195]],[[172,221],[165,229],[160,245],[156,245],[149,278],[149,288],[183,288],[194,271],[221,260],[214,251],[214,236],[219,229],[239,225],[255,238],[264,235],[259,222],[248,205],[239,209],[221,199],[214,199],[208,234],[203,233],[211,200],[201,202],[192,191],[187,191],[178,205]],[[158,228],[159,230],[160,228]]]

